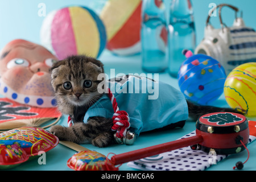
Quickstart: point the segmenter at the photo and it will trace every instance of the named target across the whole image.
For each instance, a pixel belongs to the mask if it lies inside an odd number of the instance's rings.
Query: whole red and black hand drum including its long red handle
[[[248,121],[243,115],[211,113],[198,119],[194,137],[114,155],[111,160],[114,164],[121,164],[195,144],[205,152],[214,150],[220,155],[236,154],[245,150],[243,143],[246,146],[248,141]]]

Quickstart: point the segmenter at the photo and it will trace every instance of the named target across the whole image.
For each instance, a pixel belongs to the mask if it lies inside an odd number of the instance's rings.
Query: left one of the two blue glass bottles
[[[166,5],[163,0],[143,0],[141,27],[143,71],[157,73],[165,71],[168,67],[166,16]]]

